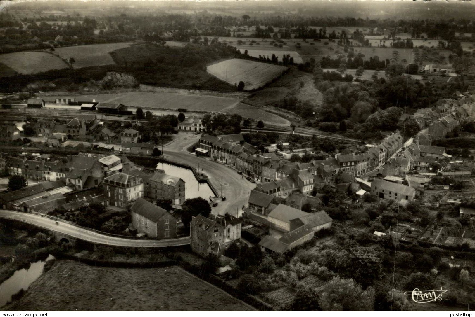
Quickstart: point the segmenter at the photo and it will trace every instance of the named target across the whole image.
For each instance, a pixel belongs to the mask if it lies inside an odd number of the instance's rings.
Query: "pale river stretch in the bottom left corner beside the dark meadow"
[[[53,255],[48,255],[46,260],[31,263],[28,270],[21,269],[13,273],[12,276],[0,284],[0,307],[4,306],[11,296],[18,293],[21,289],[28,290],[28,287],[40,277],[45,263],[54,259]]]

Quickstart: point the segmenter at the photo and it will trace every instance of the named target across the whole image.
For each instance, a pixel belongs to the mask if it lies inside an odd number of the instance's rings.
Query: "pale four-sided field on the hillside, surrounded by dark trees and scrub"
[[[251,91],[266,85],[287,67],[268,63],[247,61],[238,58],[211,64],[206,67],[206,71],[218,79],[228,82],[231,85],[244,82],[244,90]]]

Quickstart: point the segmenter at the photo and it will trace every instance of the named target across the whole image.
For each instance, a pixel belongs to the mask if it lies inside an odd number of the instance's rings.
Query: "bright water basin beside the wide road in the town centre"
[[[208,183],[200,184],[191,170],[184,169],[167,163],[158,163],[157,169],[165,171],[166,174],[180,177],[185,181],[185,198],[201,197],[209,200],[209,196],[214,197],[214,193],[209,188]]]

